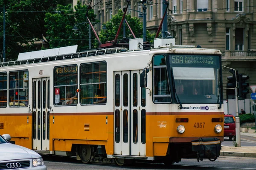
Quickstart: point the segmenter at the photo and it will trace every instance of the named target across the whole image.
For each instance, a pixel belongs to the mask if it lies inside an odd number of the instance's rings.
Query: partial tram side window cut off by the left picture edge
[[[0,107],[7,106],[7,73],[0,73]]]

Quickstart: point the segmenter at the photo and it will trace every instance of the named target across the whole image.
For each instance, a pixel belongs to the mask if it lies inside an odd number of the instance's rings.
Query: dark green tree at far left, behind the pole
[[[6,0],[7,61],[17,59],[20,52],[38,50],[34,42],[41,40],[42,34],[46,33],[45,14],[54,11],[56,4],[57,0]],[[3,28],[3,12],[0,27]],[[0,30],[0,45],[3,47],[3,29]]]

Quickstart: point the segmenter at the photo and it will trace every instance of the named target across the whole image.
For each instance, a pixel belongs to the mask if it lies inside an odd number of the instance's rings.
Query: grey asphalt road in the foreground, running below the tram
[[[256,170],[256,158],[241,157],[220,157],[214,162],[182,159],[171,167],[153,163],[134,163],[120,167],[110,164],[83,164],[76,159],[57,156],[43,156],[43,158],[48,170]]]

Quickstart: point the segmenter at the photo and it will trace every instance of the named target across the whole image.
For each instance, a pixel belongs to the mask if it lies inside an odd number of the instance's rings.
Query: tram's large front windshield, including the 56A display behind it
[[[182,104],[219,103],[221,98],[219,56],[169,55],[169,62],[176,94]]]

